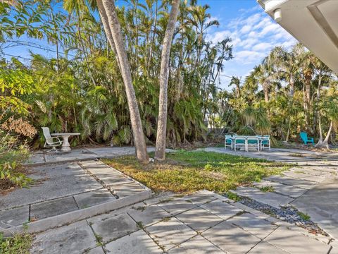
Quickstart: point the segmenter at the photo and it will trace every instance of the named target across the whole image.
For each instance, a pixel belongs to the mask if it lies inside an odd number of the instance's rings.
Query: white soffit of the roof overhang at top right
[[[338,0],[258,0],[279,24],[338,74]]]

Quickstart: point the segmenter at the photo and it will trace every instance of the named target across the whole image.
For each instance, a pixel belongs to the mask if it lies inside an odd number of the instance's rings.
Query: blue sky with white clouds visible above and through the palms
[[[208,31],[207,40],[216,43],[225,37],[232,38],[234,59],[225,63],[220,85],[222,88],[230,90],[228,87],[230,78],[224,75],[237,75],[244,79],[273,47],[283,45],[288,48],[296,43],[292,35],[264,13],[256,0],[199,0],[199,4],[208,4],[211,7],[208,11],[212,19],[220,23],[218,28],[213,27]],[[23,37],[22,40],[27,41],[27,38]],[[45,42],[37,40],[30,42],[55,50],[55,47],[46,45]],[[54,52],[34,47],[12,47],[5,49],[4,52],[29,57],[29,49],[49,57],[55,56]]]

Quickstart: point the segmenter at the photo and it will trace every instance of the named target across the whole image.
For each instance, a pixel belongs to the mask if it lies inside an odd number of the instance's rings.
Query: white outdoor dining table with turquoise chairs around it
[[[224,147],[231,150],[253,150],[261,151],[264,148],[271,150],[270,135],[225,135]]]

